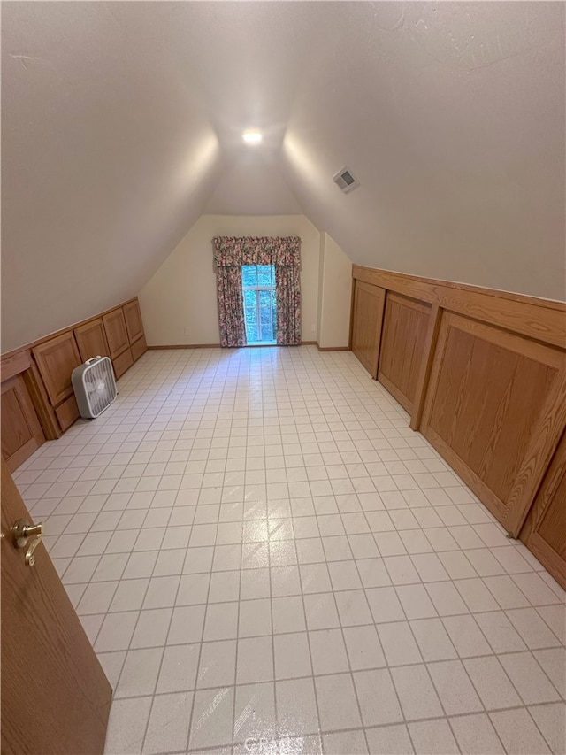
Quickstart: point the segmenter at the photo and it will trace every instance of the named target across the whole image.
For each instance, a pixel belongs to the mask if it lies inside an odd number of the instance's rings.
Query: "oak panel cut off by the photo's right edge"
[[[566,589],[566,434],[548,467],[520,538]]]

